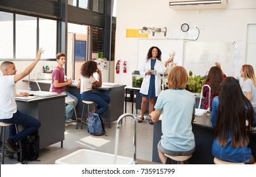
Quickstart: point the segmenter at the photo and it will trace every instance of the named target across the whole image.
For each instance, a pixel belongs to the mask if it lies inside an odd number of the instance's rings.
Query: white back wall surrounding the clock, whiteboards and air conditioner
[[[202,26],[198,41],[234,42],[246,44],[247,25],[256,23],[256,1],[229,0],[227,9],[204,9],[174,11],[169,0],[118,0],[117,33],[115,41],[115,63],[117,59],[127,61],[127,73],[115,74],[115,83],[132,85],[132,71],[137,69],[138,39],[126,38],[126,29],[142,27],[167,27],[166,38],[172,39],[172,32],[181,34],[181,24],[188,23],[191,31]],[[165,39],[163,33],[149,34],[149,39]],[[243,51],[246,45],[243,46]],[[145,54],[146,56],[146,54]],[[245,61],[243,52],[243,61]],[[140,59],[139,59],[140,60]],[[144,58],[141,58],[143,61]],[[165,61],[166,59],[163,59]],[[120,68],[122,69],[122,68]]]

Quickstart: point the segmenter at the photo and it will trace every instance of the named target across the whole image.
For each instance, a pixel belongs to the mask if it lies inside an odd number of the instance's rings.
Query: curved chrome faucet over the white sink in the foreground
[[[133,145],[134,145],[134,154],[133,154],[133,161],[132,164],[137,164],[136,161],[136,119],[132,114],[122,114],[118,119],[117,119],[117,131],[115,133],[115,156],[114,156],[114,164],[117,161],[117,151],[118,151],[118,140],[119,140],[119,130],[121,128],[121,123],[122,119],[126,117],[131,117],[133,121],[133,127],[134,127],[134,137],[133,137]]]

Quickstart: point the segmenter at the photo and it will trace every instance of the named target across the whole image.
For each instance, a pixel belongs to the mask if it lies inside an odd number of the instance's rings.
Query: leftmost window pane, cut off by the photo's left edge
[[[13,14],[0,11],[0,58],[13,58]]]

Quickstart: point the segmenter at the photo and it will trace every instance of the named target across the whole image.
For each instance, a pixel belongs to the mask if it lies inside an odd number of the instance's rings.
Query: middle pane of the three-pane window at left
[[[35,58],[37,53],[37,18],[16,15],[16,58]]]

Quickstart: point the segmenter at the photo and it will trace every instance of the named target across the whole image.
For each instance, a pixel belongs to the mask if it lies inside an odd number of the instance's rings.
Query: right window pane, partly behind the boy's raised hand
[[[57,46],[57,22],[39,18],[39,48],[44,49],[42,58],[55,58]]]

